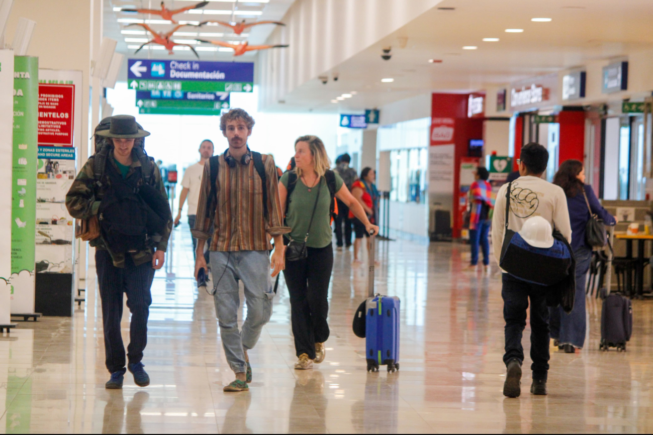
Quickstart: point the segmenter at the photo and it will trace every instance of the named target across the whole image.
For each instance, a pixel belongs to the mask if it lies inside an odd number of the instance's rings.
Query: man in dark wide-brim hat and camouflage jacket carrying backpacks
[[[147,344],[150,287],[155,269],[161,269],[165,261],[172,214],[161,172],[144,151],[143,138],[149,135],[133,116],[103,119],[95,130],[95,154],[84,164],[66,195],[71,216],[86,220],[88,228],[94,224],[99,228],[92,235],[86,233],[86,239],[96,249],[104,352],[106,368],[111,373],[105,385],[108,389],[121,388],[126,371],[120,333],[123,293],[127,294],[127,307],[132,314],[127,368],[134,375],[136,385],[150,384],[141,363]],[[130,204],[135,213],[125,213],[124,196],[116,194],[120,188],[121,192],[132,195]],[[129,236],[129,231],[125,231],[127,236],[123,236],[122,222],[127,228],[144,216],[146,225],[138,227],[140,233]]]

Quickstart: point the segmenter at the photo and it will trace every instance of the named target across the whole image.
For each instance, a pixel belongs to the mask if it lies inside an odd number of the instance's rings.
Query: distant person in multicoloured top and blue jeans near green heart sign
[[[476,168],[474,178],[476,181],[471,183],[470,199],[470,246],[471,246],[471,269],[475,269],[479,262],[479,242],[483,248],[483,267],[485,271],[490,269],[490,241],[488,241],[488,231],[490,230],[490,210],[494,208],[494,199],[492,198],[492,186],[487,182],[490,173],[488,170],[479,166]]]

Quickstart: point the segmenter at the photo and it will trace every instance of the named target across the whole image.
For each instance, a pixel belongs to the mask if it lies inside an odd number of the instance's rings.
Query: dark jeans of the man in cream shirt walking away
[[[502,274],[503,320],[505,320],[505,354],[503,363],[517,358],[524,361],[522,333],[526,327],[526,309],[530,298],[531,370],[534,380],[547,380],[549,372],[549,309],[546,288]]]

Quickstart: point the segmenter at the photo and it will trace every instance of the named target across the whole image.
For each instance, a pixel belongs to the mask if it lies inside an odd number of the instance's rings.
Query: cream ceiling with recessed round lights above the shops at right
[[[454,10],[441,10],[449,7]],[[430,91],[474,91],[653,48],[652,0],[445,0],[285,97],[279,110],[345,112]],[[551,18],[532,22],[532,18]],[[523,29],[506,33],[505,29]],[[483,42],[483,38],[500,38]],[[401,48],[402,43],[405,48]],[[392,59],[381,49],[392,46]],[[463,50],[477,46],[477,50]],[[428,63],[440,59],[442,63]],[[652,59],[653,60],[653,59]],[[332,76],[337,73],[339,80]],[[394,78],[381,83],[381,78]],[[338,104],[342,93],[357,95]]]

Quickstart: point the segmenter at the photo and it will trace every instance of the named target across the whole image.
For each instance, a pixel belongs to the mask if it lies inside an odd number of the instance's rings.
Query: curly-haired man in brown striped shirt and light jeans
[[[229,141],[229,148],[204,165],[192,230],[198,239],[197,278],[200,268],[206,269],[202,252],[206,239],[211,236],[211,225],[215,228],[209,247],[215,314],[227,361],[236,374],[236,380],[224,387],[224,391],[244,391],[251,382],[247,350],[255,346],[263,325],[270,320],[274,298],[271,277],[283,270],[283,234],[290,232],[290,228],[283,226],[274,159],[253,153],[247,147],[253,125],[254,119],[242,109],[232,109],[220,118],[220,129]],[[212,164],[217,165],[215,186],[211,185]],[[212,187],[214,198],[211,198]],[[276,247],[271,259],[270,238]],[[269,269],[273,269],[271,276]],[[238,331],[239,280],[245,286],[247,301],[242,332]]]

